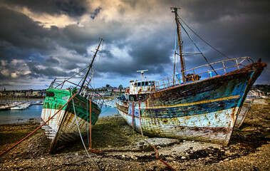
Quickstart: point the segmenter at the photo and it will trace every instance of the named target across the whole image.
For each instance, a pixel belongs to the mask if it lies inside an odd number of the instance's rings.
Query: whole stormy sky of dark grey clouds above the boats
[[[94,63],[95,88],[160,80],[173,73],[175,18],[230,58],[249,56],[270,66],[269,0],[1,0],[0,90],[46,89],[55,77],[73,76]],[[189,32],[208,61],[226,60]],[[197,52],[183,34],[184,51]],[[202,66],[187,56],[186,68]],[[270,84],[269,67],[255,84]]]

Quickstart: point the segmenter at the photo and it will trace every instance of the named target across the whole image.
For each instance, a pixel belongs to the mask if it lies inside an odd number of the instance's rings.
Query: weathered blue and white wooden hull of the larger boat
[[[227,145],[246,94],[264,63],[158,90],[142,101],[116,100],[120,115],[138,132],[152,137]]]

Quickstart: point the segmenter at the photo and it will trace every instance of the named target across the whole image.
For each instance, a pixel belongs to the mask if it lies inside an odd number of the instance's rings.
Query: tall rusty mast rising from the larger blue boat
[[[171,7],[172,12],[175,13],[175,22],[176,22],[176,29],[177,29],[177,39],[178,39],[179,53],[180,53],[180,62],[181,62],[181,73],[182,73],[183,82],[185,83],[185,62],[184,62],[184,56],[183,56],[181,28],[180,28],[180,25],[179,25],[179,19],[178,19],[177,9],[180,9],[180,8]],[[175,65],[174,65],[174,68],[173,68],[173,74],[175,75]]]

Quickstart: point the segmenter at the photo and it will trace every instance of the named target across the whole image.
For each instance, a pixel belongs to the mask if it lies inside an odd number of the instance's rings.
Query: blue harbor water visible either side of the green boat
[[[24,123],[27,120],[41,118],[42,105],[31,105],[26,110],[0,110],[0,124]],[[116,115],[117,108],[103,107],[100,117]]]

